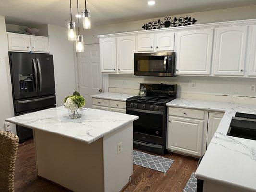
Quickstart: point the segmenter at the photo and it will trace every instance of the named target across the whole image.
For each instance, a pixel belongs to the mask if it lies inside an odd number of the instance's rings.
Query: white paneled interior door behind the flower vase
[[[103,89],[100,72],[99,45],[84,45],[84,52],[78,53],[79,92],[85,98],[85,107],[92,108],[91,95]]]

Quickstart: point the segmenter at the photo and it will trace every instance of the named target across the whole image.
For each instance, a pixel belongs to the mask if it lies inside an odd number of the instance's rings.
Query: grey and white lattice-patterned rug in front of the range
[[[142,167],[151,168],[166,173],[174,160],[155,156],[141,151],[133,151],[133,163]]]

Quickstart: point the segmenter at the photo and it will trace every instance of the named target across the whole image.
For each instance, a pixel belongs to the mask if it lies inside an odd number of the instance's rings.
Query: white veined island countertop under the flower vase
[[[83,111],[81,118],[71,119],[68,110],[61,106],[8,118],[5,121],[92,143],[136,119],[138,116],[90,108]]]

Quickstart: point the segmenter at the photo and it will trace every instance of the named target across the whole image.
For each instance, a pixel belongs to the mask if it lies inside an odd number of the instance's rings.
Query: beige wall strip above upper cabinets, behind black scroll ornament
[[[241,19],[256,19],[256,5],[229,8],[229,9],[220,9],[220,10],[213,10],[213,11],[206,11],[206,12],[194,12],[194,13],[187,13],[182,15],[174,15],[174,16],[171,16],[171,19],[179,16],[191,16],[197,20],[195,24],[205,24],[205,23],[232,21],[232,20],[241,20]],[[92,17],[93,17],[93,13],[92,13]],[[118,33],[118,32],[124,32],[124,31],[143,30],[141,28],[143,24],[146,24],[155,19],[159,19],[159,18],[138,20],[133,22],[119,23],[119,24],[92,26],[90,30],[81,30],[81,33],[84,35],[84,44],[98,43],[98,38],[95,37],[96,35]],[[161,20],[163,19],[164,17],[161,18]]]

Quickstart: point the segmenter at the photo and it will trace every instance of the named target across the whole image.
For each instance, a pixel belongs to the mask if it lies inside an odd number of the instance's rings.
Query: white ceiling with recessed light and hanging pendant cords
[[[76,0],[71,1],[74,16]],[[87,8],[93,26],[256,4],[256,0],[155,1],[154,6],[148,6],[147,0],[87,0]],[[79,11],[84,6],[84,0],[79,0]],[[6,16],[9,24],[65,26],[69,20],[69,0],[1,0],[0,15]]]

